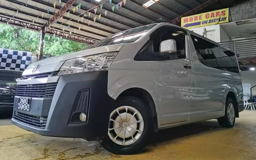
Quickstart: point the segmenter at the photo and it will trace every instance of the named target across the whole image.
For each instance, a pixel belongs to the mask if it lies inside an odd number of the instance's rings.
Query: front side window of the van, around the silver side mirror
[[[160,52],[160,43],[174,39],[176,41],[177,52]],[[135,61],[166,61],[186,58],[186,31],[174,27],[163,26],[155,30],[150,40],[142,47],[142,49],[134,57]]]

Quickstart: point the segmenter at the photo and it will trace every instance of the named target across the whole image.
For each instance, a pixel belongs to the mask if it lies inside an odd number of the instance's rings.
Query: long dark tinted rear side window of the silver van
[[[191,35],[198,60],[207,67],[239,73],[235,53],[205,39]]]

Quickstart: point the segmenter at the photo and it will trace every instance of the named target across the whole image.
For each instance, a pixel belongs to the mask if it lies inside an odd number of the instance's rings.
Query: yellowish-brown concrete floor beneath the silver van
[[[98,142],[44,137],[0,126],[0,160],[256,160],[256,111],[243,111],[232,129],[216,120],[160,130],[141,154],[119,156]],[[0,120],[2,121],[2,120]]]

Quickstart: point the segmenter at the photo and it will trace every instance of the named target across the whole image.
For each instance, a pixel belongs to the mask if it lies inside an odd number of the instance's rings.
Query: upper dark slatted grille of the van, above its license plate
[[[52,98],[57,83],[18,85],[15,95],[21,97]]]

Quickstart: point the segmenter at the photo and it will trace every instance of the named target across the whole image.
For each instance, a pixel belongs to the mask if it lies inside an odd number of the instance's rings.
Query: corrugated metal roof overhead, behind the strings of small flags
[[[65,31],[74,31],[79,35],[91,37],[94,39],[103,39],[114,33],[118,33],[122,30],[128,30],[133,27],[147,25],[155,22],[169,22],[170,20],[188,12],[191,9],[205,3],[208,0],[158,0],[155,4],[149,7],[142,6],[148,0],[127,0],[126,4],[115,8],[114,12],[111,7],[118,4],[121,0],[112,0],[112,4],[106,1],[101,11],[100,7],[97,8],[97,12],[94,13],[91,10],[91,17],[83,16],[88,9],[102,4],[104,0],[97,2],[96,0],[77,0],[72,7],[70,7],[63,15],[63,19],[58,19],[57,23],[52,24],[52,27]],[[236,0],[242,2],[246,0]],[[56,2],[56,8],[53,4]],[[43,26],[50,17],[53,17],[55,13],[59,11],[68,0],[28,0],[27,6],[25,0],[0,0],[0,14],[9,17],[15,17],[28,22],[34,21],[35,23]],[[81,9],[73,13],[73,8],[78,4],[81,5]],[[233,0],[225,0],[224,2],[219,0],[214,4],[211,4],[206,9],[199,12],[211,11],[212,9],[221,9],[228,5],[233,5]],[[50,9],[49,14],[47,9]],[[18,14],[16,11],[18,11]],[[105,11],[107,15],[105,16]],[[68,12],[69,16],[68,16]],[[42,17],[43,14],[43,17]],[[99,14],[101,18],[99,19]],[[83,17],[83,19],[81,19]],[[93,22],[93,18],[96,17],[96,22]],[[88,22],[90,21],[90,26]],[[70,25],[70,28],[68,28]],[[81,30],[78,30],[81,28]]]

